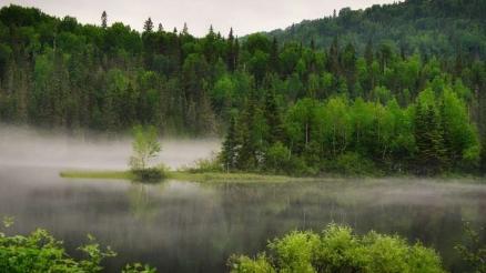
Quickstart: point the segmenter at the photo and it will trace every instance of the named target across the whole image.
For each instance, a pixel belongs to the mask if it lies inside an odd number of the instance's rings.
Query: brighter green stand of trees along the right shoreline
[[[462,88],[429,83],[407,107],[385,92],[367,102],[305,98],[281,110],[272,90],[253,94],[231,120],[221,160],[229,171],[306,175],[484,171]]]

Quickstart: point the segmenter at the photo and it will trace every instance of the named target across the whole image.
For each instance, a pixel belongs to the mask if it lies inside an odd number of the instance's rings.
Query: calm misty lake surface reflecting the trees
[[[288,184],[155,185],[61,179],[54,169],[0,166],[0,215],[13,232],[45,228],[68,249],[92,233],[119,252],[115,270],[141,261],[160,272],[222,272],[232,253],[253,254],[293,229],[347,223],[357,232],[397,233],[439,250],[462,266],[453,246],[462,220],[486,225],[486,185],[426,180]],[[483,239],[484,240],[484,239]]]

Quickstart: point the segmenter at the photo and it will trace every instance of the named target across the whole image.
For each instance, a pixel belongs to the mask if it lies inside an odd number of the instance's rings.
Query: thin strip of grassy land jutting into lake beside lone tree
[[[104,179],[104,180],[132,180],[133,174],[130,171],[62,171],[61,178],[68,179]],[[193,182],[292,182],[314,179],[301,179],[284,175],[265,175],[255,173],[193,173],[186,171],[170,171],[166,175],[170,180],[193,181]]]

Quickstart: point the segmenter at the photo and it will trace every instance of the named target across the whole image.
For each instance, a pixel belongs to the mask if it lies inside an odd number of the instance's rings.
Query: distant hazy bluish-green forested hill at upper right
[[[367,42],[386,43],[395,51],[423,55],[452,55],[458,50],[486,55],[486,1],[484,0],[407,0],[373,6],[365,10],[350,8],[334,16],[267,33],[279,41],[300,41],[328,48],[338,37],[363,51]]]

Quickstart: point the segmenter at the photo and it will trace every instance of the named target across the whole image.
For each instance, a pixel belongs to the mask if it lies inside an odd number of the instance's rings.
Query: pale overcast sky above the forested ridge
[[[100,24],[103,10],[109,24],[115,21],[130,24],[136,30],[151,17],[154,26],[161,22],[165,30],[182,29],[188,22],[189,32],[203,36],[210,24],[226,34],[233,27],[237,36],[269,31],[330,16],[344,7],[362,9],[375,3],[397,0],[0,0],[40,8],[57,17],[72,16],[82,23]]]

